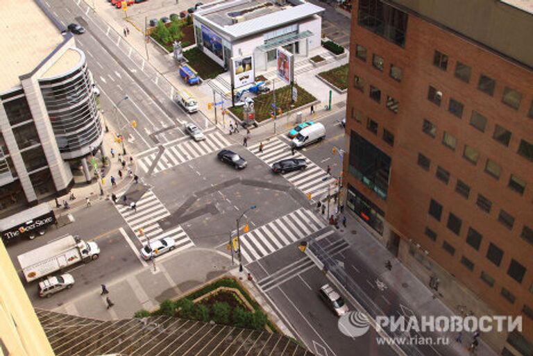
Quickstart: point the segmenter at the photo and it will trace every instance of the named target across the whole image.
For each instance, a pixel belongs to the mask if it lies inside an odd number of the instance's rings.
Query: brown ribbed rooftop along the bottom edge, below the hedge
[[[152,316],[99,321],[35,310],[56,356],[312,356],[282,334]]]

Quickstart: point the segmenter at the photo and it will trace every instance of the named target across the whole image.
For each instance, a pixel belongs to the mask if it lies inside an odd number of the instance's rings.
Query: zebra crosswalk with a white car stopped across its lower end
[[[158,221],[168,217],[170,213],[151,190],[137,201],[137,210],[121,204],[116,204],[115,207],[143,246],[149,239],[162,239],[163,237],[174,238],[177,251],[194,246],[187,232],[179,225],[163,231]]]

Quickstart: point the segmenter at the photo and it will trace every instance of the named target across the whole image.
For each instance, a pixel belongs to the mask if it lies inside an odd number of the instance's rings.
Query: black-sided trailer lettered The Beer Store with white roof
[[[10,217],[0,220],[0,231],[3,241],[17,237],[35,239],[37,235],[44,235],[46,228],[56,223],[56,216],[48,203],[42,203]]]

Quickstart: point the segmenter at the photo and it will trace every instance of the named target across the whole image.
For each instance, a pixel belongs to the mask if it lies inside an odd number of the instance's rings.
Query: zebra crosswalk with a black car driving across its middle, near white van
[[[300,152],[292,155],[291,147],[278,138],[263,144],[262,152],[259,151],[259,144],[254,144],[248,147],[248,149],[269,166],[274,162],[287,158],[304,158],[307,162],[307,168],[305,170],[294,171],[283,175],[304,194],[311,193],[313,198],[321,198],[321,196],[328,194],[328,185],[330,186],[330,194],[334,194],[337,191],[335,178],[329,176],[321,167],[307,160],[305,155],[302,155]]]

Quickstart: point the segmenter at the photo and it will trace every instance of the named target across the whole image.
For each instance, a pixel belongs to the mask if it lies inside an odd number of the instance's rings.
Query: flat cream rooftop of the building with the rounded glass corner
[[[34,0],[1,0],[0,92],[20,84],[64,40]],[[6,70],[9,68],[9,70]]]

